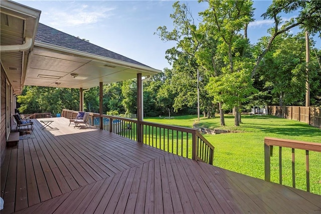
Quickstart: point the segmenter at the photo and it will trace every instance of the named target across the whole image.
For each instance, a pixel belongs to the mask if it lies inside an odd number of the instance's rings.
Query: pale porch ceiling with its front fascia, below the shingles
[[[114,60],[45,43],[35,43],[27,66],[25,85],[92,88],[103,84],[149,76],[150,67]]]

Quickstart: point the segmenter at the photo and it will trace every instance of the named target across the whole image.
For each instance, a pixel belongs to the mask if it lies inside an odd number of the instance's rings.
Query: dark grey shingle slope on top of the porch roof
[[[82,39],[78,39],[77,37],[63,33],[61,31],[58,31],[54,28],[51,28],[41,23],[39,23],[35,41],[43,42],[43,43],[47,43],[55,46],[60,46],[64,48],[69,48],[77,51],[82,51],[89,54],[95,54],[102,57],[108,57],[111,59],[120,60],[120,61],[133,63],[136,65],[150,68],[149,66],[146,66],[140,62],[129,59],[120,54],[116,54],[112,51],[109,51],[97,45],[91,44]]]

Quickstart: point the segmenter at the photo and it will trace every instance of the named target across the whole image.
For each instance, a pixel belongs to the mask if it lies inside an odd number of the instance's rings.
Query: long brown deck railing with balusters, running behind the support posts
[[[77,111],[64,109],[61,115],[70,119],[76,117],[77,113]],[[97,113],[90,113],[89,125],[132,140],[138,139],[138,125],[135,119],[109,115],[100,117]],[[139,125],[142,130],[140,133],[142,143],[183,157],[213,164],[214,146],[197,129],[146,121],[141,121]]]

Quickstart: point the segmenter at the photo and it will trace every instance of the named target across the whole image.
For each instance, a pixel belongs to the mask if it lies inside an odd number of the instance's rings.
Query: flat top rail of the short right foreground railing
[[[269,146],[281,146],[281,147],[289,147],[294,149],[303,149],[308,151],[321,152],[321,143],[312,143],[312,142],[304,142],[304,141],[298,141],[298,140],[265,137],[264,144]]]

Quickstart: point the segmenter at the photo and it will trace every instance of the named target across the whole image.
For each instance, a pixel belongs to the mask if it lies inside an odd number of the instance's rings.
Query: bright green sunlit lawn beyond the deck
[[[146,121],[192,127],[195,115],[178,116],[175,119],[146,118]],[[226,115],[226,126],[220,126],[220,118],[201,118],[199,126],[232,130],[228,134],[204,135],[215,146],[214,165],[249,176],[264,179],[264,137],[302,140],[321,143],[321,130],[305,123],[274,116],[242,115],[240,127],[234,127],[234,116]],[[271,181],[279,182],[278,147],[271,157]],[[309,152],[310,192],[321,194],[321,153]],[[292,186],[291,149],[282,148],[282,184]],[[306,189],[305,151],[295,150],[296,188]]]

